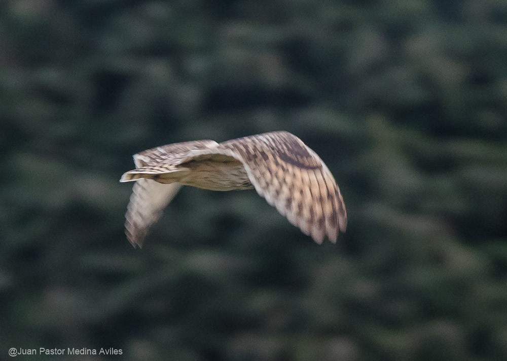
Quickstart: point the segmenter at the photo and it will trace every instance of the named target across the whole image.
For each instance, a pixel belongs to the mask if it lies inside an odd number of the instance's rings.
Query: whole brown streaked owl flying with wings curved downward
[[[317,243],[336,242],[347,227],[345,204],[319,156],[288,132],[169,144],[134,155],[136,169],[120,182],[136,181],[125,233],[142,246],[181,185],[210,190],[255,188],[266,201]]]

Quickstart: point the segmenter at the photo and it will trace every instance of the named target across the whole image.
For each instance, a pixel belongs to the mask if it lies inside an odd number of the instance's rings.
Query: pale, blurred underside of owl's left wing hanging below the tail
[[[180,187],[179,183],[161,184],[146,178],[134,183],[125,215],[125,234],[134,248],[142,248],[149,227],[160,219]]]

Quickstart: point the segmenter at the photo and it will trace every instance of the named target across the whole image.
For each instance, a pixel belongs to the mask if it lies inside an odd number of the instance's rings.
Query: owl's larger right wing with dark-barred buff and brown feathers
[[[303,233],[321,243],[345,232],[347,212],[333,175],[319,156],[288,132],[271,132],[220,143],[213,152],[243,162],[250,182],[266,201]]]

